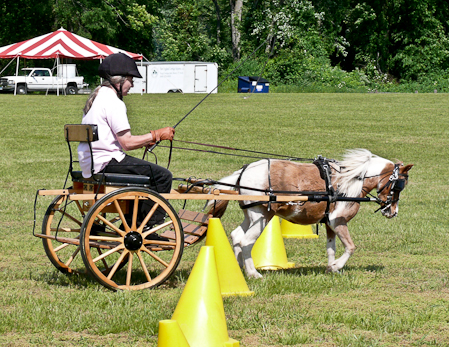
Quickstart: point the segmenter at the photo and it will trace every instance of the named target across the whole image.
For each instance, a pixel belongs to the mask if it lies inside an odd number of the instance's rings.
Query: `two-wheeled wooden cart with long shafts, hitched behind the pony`
[[[73,170],[71,143],[97,139],[93,125],[66,125],[70,149],[69,174],[73,185],[67,189],[39,190],[38,196],[54,196],[45,213],[42,239],[51,263],[63,273],[87,272],[112,290],[152,288],[166,281],[176,270],[184,247],[202,240],[214,204],[205,213],[172,206],[175,200],[258,201],[287,203],[324,201],[326,196],[241,195],[232,189],[219,190],[214,182],[191,181],[170,193],[151,190],[151,178],[124,174],[94,174],[84,178]],[[151,211],[142,216],[141,204]],[[156,209],[165,219],[151,225]]]

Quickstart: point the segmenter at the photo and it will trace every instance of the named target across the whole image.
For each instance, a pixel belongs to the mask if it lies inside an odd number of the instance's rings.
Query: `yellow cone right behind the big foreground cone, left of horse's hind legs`
[[[243,277],[242,270],[235,259],[232,247],[229,244],[223,225],[219,218],[210,218],[206,235],[206,246],[214,246],[215,261],[217,264],[218,280],[220,281],[221,295],[253,295]]]

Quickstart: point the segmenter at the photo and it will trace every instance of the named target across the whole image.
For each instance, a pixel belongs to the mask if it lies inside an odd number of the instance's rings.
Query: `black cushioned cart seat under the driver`
[[[82,171],[72,171],[72,181],[81,183],[104,184],[106,186],[120,187],[150,187],[150,177],[141,175],[126,175],[118,173],[94,174],[93,178],[85,178]]]

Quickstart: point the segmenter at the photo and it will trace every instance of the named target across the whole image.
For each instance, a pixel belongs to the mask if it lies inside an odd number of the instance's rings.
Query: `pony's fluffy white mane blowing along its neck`
[[[379,158],[367,149],[347,150],[343,160],[338,162],[340,170],[335,173],[338,193],[344,196],[359,196],[363,188],[363,178],[371,160]]]

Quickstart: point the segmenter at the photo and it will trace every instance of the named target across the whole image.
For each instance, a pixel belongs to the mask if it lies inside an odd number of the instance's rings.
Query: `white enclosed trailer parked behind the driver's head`
[[[218,64],[200,61],[137,63],[143,78],[134,78],[129,93],[217,92]]]

